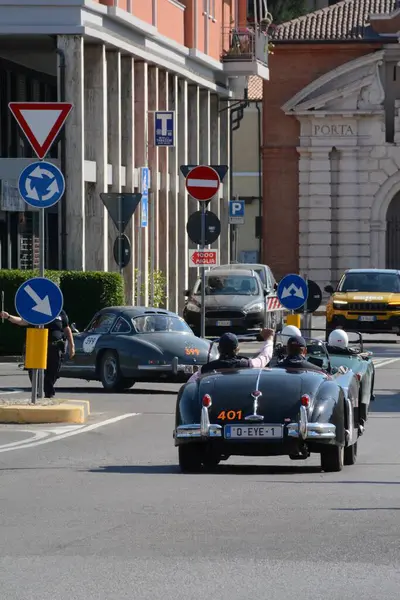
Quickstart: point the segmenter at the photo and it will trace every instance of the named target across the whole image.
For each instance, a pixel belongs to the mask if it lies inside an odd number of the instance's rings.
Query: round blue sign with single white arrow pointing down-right
[[[46,325],[60,314],[64,297],[58,285],[45,277],[25,281],[15,294],[15,308],[31,325]]]

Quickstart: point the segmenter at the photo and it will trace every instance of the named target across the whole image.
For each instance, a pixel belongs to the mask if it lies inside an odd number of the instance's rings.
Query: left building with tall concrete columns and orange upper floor
[[[229,165],[230,104],[249,76],[269,76],[266,36],[244,29],[246,11],[246,0],[0,0],[2,268],[37,266],[38,245],[37,212],[16,190],[34,158],[8,102],[68,101],[73,111],[48,156],[66,193],[46,211],[46,267],[118,270],[117,231],[100,194],[141,191],[149,167],[148,225],[138,209],[126,231],[127,302],[151,302],[155,269],[167,280],[166,306],[181,310],[193,278],[186,222],[197,203],[180,166]],[[157,110],[175,111],[172,148],[155,146]],[[221,262],[230,258],[229,181],[211,202]]]

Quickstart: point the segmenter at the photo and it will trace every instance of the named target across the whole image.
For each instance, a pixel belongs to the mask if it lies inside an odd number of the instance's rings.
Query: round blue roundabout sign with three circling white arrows
[[[29,206],[49,208],[57,204],[64,194],[64,176],[52,163],[34,162],[19,176],[18,190]]]

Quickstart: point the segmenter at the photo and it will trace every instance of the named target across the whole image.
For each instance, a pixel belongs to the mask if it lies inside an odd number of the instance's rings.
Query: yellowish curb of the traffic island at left
[[[90,415],[88,400],[64,400],[62,404],[52,406],[24,406],[13,404],[0,406],[0,423],[7,424],[45,424],[73,423],[82,425]]]

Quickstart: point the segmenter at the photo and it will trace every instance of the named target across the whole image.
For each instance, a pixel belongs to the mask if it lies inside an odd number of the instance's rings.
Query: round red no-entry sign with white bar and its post
[[[199,165],[191,169],[186,175],[186,189],[188,193],[200,202],[201,228],[200,228],[200,254],[206,249],[206,211],[210,200],[218,193],[221,186],[221,178],[213,167]],[[201,263],[201,329],[200,336],[205,337],[206,329],[206,307],[205,287],[206,272],[205,264]]]

